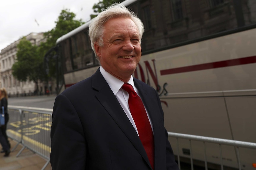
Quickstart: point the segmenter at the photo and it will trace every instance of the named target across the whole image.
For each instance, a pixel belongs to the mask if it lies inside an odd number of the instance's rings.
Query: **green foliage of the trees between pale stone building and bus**
[[[17,62],[12,66],[12,75],[19,81],[34,81],[37,85],[38,81],[46,81],[48,77],[55,77],[56,61],[50,59],[50,74],[45,74],[44,56],[52,47],[56,46],[56,41],[62,35],[74,30],[84,24],[82,20],[75,20],[75,14],[69,9],[62,10],[56,23],[56,27],[44,33],[46,39],[40,46],[32,45],[32,43],[23,37],[17,45]],[[54,55],[54,54],[53,54]],[[48,77],[47,77],[48,76]]]

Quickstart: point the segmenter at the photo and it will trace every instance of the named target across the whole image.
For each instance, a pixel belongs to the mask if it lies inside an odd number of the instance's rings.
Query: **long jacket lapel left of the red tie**
[[[102,104],[102,106],[106,109],[108,114],[110,114],[110,116],[114,119],[118,127],[124,132],[124,134],[138,150],[141,156],[145,159],[148,165],[150,165],[146,151],[144,150],[144,147],[140,141],[140,138],[137,135],[137,132],[135,131],[134,127],[126,116],[116,96],[110,89],[108,83],[100,73],[99,69],[92,76],[92,88],[97,91],[95,93],[95,96]]]

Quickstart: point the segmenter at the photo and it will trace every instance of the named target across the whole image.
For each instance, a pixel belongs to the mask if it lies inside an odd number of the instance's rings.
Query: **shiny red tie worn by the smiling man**
[[[149,162],[154,169],[154,135],[144,105],[132,88],[132,85],[125,83],[122,88],[129,93],[129,108],[132,118],[136,124],[140,140],[146,150]]]

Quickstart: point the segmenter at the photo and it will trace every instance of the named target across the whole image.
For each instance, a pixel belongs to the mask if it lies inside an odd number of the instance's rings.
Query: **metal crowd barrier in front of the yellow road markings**
[[[23,148],[16,157],[22,153],[25,148],[37,153],[46,159],[42,170],[50,163],[50,129],[52,123],[52,114],[44,111],[30,109],[17,109],[8,107],[9,122],[7,124],[7,135],[12,140],[17,141],[17,145],[11,150],[15,150],[19,144]]]

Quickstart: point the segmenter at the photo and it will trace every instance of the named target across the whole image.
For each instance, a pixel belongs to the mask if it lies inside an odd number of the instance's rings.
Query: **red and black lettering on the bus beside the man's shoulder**
[[[153,63],[154,69],[152,69],[151,65],[149,64],[149,61],[144,61],[145,69],[146,69],[146,75],[144,73],[143,67],[139,63],[138,67],[136,68],[136,70],[134,72],[134,77],[139,79],[139,75],[138,74],[140,74],[141,81],[147,83],[150,86],[151,86],[150,80],[153,81],[152,84],[154,84],[154,86],[156,87],[155,89],[156,89],[158,95],[159,96],[167,95],[168,94],[168,92],[166,90],[167,82],[165,82],[162,86],[159,85],[158,79],[157,79],[157,69],[156,69],[156,65],[155,65],[155,59],[152,59],[151,61]],[[151,77],[151,79],[150,79],[150,77]],[[161,102],[164,103],[168,107],[166,101],[162,101],[161,100]]]

